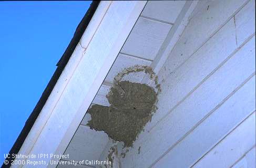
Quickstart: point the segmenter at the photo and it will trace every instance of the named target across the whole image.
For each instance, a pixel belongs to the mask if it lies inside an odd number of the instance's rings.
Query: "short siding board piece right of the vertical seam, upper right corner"
[[[255,1],[251,0],[234,17],[238,45],[255,33]]]

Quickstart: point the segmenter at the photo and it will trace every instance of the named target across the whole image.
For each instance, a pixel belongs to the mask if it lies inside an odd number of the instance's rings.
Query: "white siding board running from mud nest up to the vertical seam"
[[[228,46],[223,47],[224,45]],[[161,113],[156,113],[153,117],[152,127],[156,121],[180,104],[203,80],[206,80],[209,74],[216,70],[223,61],[226,61],[236,48],[234,22],[230,20],[184,64],[163,79],[164,81],[161,82],[162,93],[159,96],[159,111]],[[163,66],[167,71],[169,70],[169,64]],[[166,99],[167,97],[168,99]]]

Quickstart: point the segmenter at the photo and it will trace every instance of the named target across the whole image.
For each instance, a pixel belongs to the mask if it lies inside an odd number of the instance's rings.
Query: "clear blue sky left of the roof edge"
[[[90,3],[0,2],[0,165]]]

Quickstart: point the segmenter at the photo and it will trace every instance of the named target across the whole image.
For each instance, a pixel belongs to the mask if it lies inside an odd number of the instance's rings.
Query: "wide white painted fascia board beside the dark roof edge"
[[[64,153],[146,2],[100,2],[18,154]]]

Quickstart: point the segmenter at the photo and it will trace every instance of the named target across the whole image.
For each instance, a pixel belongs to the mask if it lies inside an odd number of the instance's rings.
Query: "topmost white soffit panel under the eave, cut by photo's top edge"
[[[185,3],[186,1],[148,1],[141,15],[168,23],[175,23]]]

